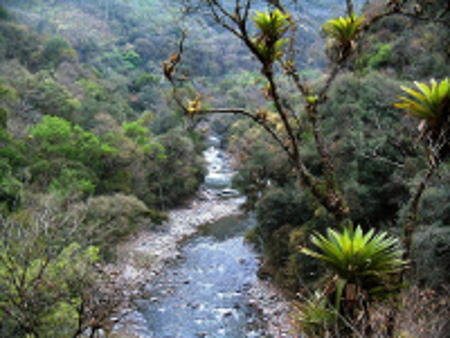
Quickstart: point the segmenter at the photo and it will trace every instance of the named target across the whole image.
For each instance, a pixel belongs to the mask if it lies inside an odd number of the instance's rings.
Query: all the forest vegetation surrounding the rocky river
[[[108,331],[114,245],[233,155],[307,336],[445,334],[448,1],[1,0],[0,336]],[[448,329],[448,323],[447,323]]]

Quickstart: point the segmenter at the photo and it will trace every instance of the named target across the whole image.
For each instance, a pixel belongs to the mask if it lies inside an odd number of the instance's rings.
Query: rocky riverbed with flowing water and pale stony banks
[[[217,145],[212,138],[204,154],[209,175],[191,205],[120,248],[125,274],[145,280],[150,294],[122,331],[141,337],[288,335],[289,305],[256,276],[258,254],[243,238],[255,220],[240,211],[245,197],[228,189],[232,173]]]

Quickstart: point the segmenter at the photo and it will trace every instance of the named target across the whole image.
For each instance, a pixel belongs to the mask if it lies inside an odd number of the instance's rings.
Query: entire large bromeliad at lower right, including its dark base
[[[354,322],[357,318],[355,310],[361,309],[360,305],[369,301],[368,293],[385,296],[388,293],[385,278],[400,272],[406,266],[406,261],[401,258],[402,250],[398,248],[398,240],[388,236],[386,232],[375,234],[375,230],[371,229],[364,234],[360,226],[354,230],[352,225],[348,225],[342,232],[328,228],[326,237],[312,235],[311,242],[319,252],[307,248],[302,248],[301,252],[324,261],[336,275],[329,284],[333,287],[327,287],[328,290],[323,292],[330,298],[327,303],[319,304],[322,309],[320,313],[311,311],[309,303],[298,309],[301,314],[297,322],[301,326],[311,326],[314,324],[311,321],[322,317],[333,319],[333,312],[326,310],[333,307],[335,319],[335,314],[340,314],[346,325]],[[334,304],[329,303],[332,295]],[[341,306],[342,301],[345,306]],[[368,318],[370,315],[367,307],[364,306],[363,309]]]

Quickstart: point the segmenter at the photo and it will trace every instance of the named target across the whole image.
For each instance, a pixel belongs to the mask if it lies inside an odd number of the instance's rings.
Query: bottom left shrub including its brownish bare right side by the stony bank
[[[95,336],[133,306],[129,290],[138,285],[99,267],[98,247],[74,241],[86,242],[82,222],[48,206],[1,219],[2,335]]]

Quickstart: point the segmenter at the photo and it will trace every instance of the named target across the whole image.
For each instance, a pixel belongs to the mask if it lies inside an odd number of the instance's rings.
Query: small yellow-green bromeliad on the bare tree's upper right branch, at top
[[[344,49],[349,49],[358,34],[362,31],[365,16],[358,17],[356,14],[330,19],[322,25],[324,33],[336,40]]]

